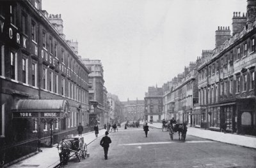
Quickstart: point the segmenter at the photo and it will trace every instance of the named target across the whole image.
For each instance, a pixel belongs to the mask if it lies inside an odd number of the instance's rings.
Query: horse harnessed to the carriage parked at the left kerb
[[[60,156],[61,167],[68,164],[71,148],[72,148],[72,143],[70,141],[65,141],[65,139],[62,139],[62,141],[58,143],[57,149]]]

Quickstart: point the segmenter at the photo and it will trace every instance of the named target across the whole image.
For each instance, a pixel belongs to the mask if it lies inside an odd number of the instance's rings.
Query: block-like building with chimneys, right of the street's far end
[[[160,122],[163,115],[163,88],[148,87],[144,97],[145,120],[148,122]]]

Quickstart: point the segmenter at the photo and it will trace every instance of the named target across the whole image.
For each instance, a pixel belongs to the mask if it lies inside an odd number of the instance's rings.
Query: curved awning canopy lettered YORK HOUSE
[[[12,109],[13,118],[65,118],[68,111],[66,100],[19,100]]]

